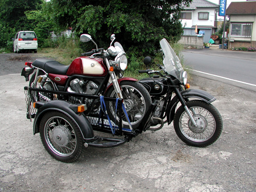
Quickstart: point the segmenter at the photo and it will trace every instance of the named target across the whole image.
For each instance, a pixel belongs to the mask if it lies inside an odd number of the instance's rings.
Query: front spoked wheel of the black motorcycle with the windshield
[[[174,116],[174,129],[178,137],[191,146],[205,147],[214,143],[220,137],[223,126],[219,111],[202,100],[191,100],[186,104],[200,127],[193,126],[185,109],[180,106]]]

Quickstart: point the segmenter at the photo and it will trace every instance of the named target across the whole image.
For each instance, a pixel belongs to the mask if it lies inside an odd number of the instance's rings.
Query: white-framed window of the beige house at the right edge
[[[251,24],[231,24],[231,36],[250,37]]]

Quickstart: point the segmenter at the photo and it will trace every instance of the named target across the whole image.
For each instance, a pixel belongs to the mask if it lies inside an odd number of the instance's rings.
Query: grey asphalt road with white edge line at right
[[[256,91],[256,53],[202,49],[182,52],[191,73]]]

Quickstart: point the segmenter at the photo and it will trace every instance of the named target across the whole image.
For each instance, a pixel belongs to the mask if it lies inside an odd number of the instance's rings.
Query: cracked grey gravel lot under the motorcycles
[[[20,76],[24,61],[12,56],[0,54],[0,191],[255,191],[255,92],[193,76],[191,88],[217,97],[224,130],[214,144],[187,146],[172,124],[119,147],[84,148],[67,164],[33,135],[23,90],[28,82]]]

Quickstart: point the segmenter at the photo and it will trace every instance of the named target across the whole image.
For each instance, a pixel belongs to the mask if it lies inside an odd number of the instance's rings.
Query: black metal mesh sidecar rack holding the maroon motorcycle
[[[36,101],[49,102],[51,100],[65,100],[74,105],[86,104],[86,111],[83,114],[87,117],[91,123],[93,130],[112,133],[113,135],[134,135],[134,131],[130,129],[122,129],[122,99],[104,97],[104,101],[108,104],[115,106],[117,104],[117,110],[108,111],[108,113],[113,113],[117,119],[119,119],[118,124],[113,120],[109,120],[107,115],[101,111],[100,96],[85,95],[79,93],[70,93],[62,91],[45,90],[31,87],[24,87],[25,100],[27,103],[27,118],[32,121],[35,118],[37,109],[34,108],[33,103]],[[116,103],[117,102],[117,103]],[[111,125],[114,129],[111,130]],[[137,135],[137,134],[136,134]]]

